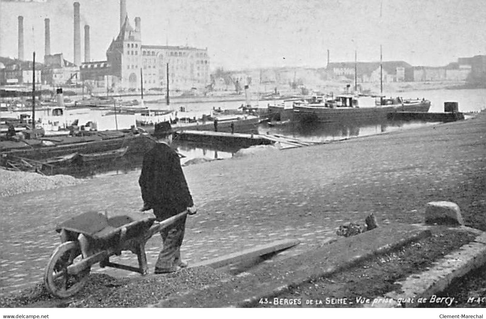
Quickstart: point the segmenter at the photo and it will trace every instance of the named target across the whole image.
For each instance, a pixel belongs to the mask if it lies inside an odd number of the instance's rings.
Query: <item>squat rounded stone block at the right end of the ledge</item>
[[[446,201],[427,203],[425,207],[425,223],[464,225],[459,206]]]

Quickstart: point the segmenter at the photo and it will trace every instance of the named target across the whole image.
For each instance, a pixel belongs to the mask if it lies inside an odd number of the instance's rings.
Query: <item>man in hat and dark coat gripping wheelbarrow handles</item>
[[[179,155],[169,146],[173,133],[168,122],[157,125],[156,134],[163,141],[145,154],[139,178],[143,199],[141,210],[154,209],[157,221],[175,216],[194,205]],[[187,267],[180,256],[185,225],[186,216],[160,232],[163,248],[155,265],[156,274],[175,272]]]

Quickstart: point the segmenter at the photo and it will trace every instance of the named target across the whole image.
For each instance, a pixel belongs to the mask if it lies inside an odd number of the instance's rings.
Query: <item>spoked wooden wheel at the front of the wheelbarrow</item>
[[[90,268],[77,274],[68,273],[68,266],[81,259],[81,249],[77,241],[66,241],[57,246],[44,273],[44,284],[52,295],[66,298],[83,288]]]

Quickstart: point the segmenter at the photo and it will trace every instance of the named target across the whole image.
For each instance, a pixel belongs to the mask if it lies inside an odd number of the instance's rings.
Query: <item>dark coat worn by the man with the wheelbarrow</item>
[[[139,178],[145,206],[175,215],[192,207],[192,196],[178,154],[164,143],[148,151]]]

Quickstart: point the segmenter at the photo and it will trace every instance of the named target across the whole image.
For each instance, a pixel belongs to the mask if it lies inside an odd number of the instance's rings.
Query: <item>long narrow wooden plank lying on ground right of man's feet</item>
[[[209,266],[211,268],[219,268],[229,264],[245,261],[247,259],[255,258],[270,253],[275,253],[280,250],[284,250],[297,245],[300,241],[298,239],[282,239],[277,240],[265,245],[256,246],[253,248],[245,249],[240,252],[216,257],[213,259],[204,260],[196,264],[190,265],[190,267]]]

